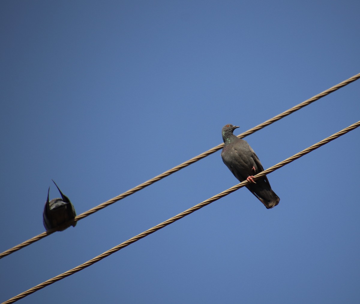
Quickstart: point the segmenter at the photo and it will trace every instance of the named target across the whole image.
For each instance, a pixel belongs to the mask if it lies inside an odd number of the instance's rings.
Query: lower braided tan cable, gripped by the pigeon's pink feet
[[[311,147],[306,148],[305,150],[296,153],[295,155],[287,158],[286,160],[284,160],[282,162],[279,162],[278,164],[270,167],[269,169],[266,169],[266,170],[256,174],[254,176],[254,179],[256,180],[256,179],[258,179],[258,178],[260,178],[262,176],[265,176],[266,174],[269,174],[269,173],[271,173],[271,172],[273,172],[273,171],[275,171],[275,170],[289,164],[290,162],[296,160],[297,158],[300,158],[301,156],[303,156],[303,155],[305,155],[305,154],[307,154],[307,153],[309,153],[309,152],[323,146],[324,144],[327,144],[328,142],[331,142],[332,140],[340,137],[341,135],[344,135],[344,134],[348,133],[349,131],[354,130],[358,126],[360,126],[360,121],[358,121],[355,124],[352,124],[351,126],[348,126],[347,128],[345,128],[345,129],[343,129],[343,130],[341,130],[341,131],[339,131],[339,132],[337,132],[337,133],[335,133],[335,134],[321,140],[320,142],[318,142],[316,144],[313,144]],[[72,274],[74,274],[74,273],[76,273],[78,271],[81,271],[82,269],[84,269],[86,267],[89,267],[90,265],[93,265],[96,262],[106,258],[107,256],[113,254],[114,252],[119,251],[120,249],[122,249],[122,248],[124,248],[126,246],[129,246],[131,243],[134,243],[134,242],[140,240],[141,238],[146,237],[149,234],[151,234],[151,233],[153,233],[155,231],[158,231],[159,229],[164,228],[165,226],[167,226],[167,225],[169,225],[171,223],[176,222],[177,220],[185,217],[186,215],[189,215],[190,213],[193,213],[194,211],[196,211],[198,209],[201,209],[202,207],[204,207],[206,205],[209,205],[214,201],[219,200],[221,197],[224,197],[224,196],[226,196],[226,195],[228,195],[228,194],[230,194],[230,193],[232,193],[232,192],[246,186],[248,183],[249,182],[247,180],[244,180],[243,182],[241,182],[241,183],[239,183],[239,184],[237,184],[237,185],[235,185],[235,186],[233,186],[233,187],[231,187],[231,188],[229,188],[229,189],[227,189],[227,190],[225,190],[225,191],[223,191],[223,192],[221,192],[221,193],[219,193],[219,194],[217,194],[217,195],[215,195],[215,196],[213,196],[213,197],[211,197],[211,198],[209,198],[209,199],[207,199],[207,200],[205,200],[205,201],[203,201],[203,202],[201,202],[201,203],[199,203],[199,204],[197,204],[197,205],[195,205],[193,207],[191,207],[190,209],[185,210],[184,212],[181,212],[178,215],[173,216],[172,218],[166,220],[165,222],[162,222],[162,223],[160,223],[160,224],[158,224],[158,225],[144,231],[143,233],[140,233],[137,236],[134,236],[134,237],[130,238],[129,240],[127,240],[127,241],[113,247],[112,249],[110,249],[108,251],[105,251],[104,253],[96,256],[95,258],[93,258],[93,259],[91,259],[91,260],[89,260],[87,262],[85,262],[84,264],[81,264],[81,265],[79,265],[79,266],[77,266],[77,267],[75,267],[73,269],[68,270],[67,272],[64,272],[62,274],[59,274],[56,277],[51,278],[50,280],[47,280],[47,281],[45,281],[45,282],[43,282],[43,283],[41,283],[39,285],[36,285],[35,287],[32,287],[31,289],[29,289],[27,291],[24,291],[24,292],[22,292],[21,294],[19,294],[17,296],[14,296],[13,298],[3,302],[2,304],[14,303],[15,301],[20,300],[20,299],[26,297],[27,295],[32,294],[33,292],[35,292],[37,290],[40,290],[40,289],[42,289],[42,288],[44,288],[44,287],[46,287],[46,286],[48,286],[48,285],[50,285],[52,283],[55,283],[55,282],[57,282],[59,280],[62,280],[63,278],[71,276]]]

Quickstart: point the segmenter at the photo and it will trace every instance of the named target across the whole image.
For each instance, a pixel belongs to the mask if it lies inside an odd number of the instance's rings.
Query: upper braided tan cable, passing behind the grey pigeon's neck
[[[307,106],[308,104],[320,99],[321,97],[324,97],[324,96],[332,93],[333,91],[336,91],[336,90],[342,88],[343,86],[346,86],[346,85],[350,84],[351,82],[353,82],[353,81],[355,81],[355,80],[357,80],[359,78],[360,78],[360,73],[350,77],[347,80],[344,80],[344,81],[340,82],[337,85],[332,86],[330,89],[327,89],[327,90],[315,95],[314,97],[311,97],[310,99],[307,99],[307,100],[303,101],[302,103],[297,104],[296,106],[288,109],[285,112],[280,113],[279,115],[274,116],[273,118],[271,118],[269,120],[266,120],[262,124],[257,125],[254,128],[251,128],[251,129],[247,130],[246,132],[243,132],[243,133],[239,134],[238,137],[239,138],[244,138],[247,135],[250,135],[250,134],[252,134],[252,133],[254,133],[254,132],[256,132],[256,131],[258,131],[258,130],[260,130],[262,128],[265,128],[267,125],[270,125],[273,122],[278,121],[278,120],[282,119],[283,117],[290,115],[291,113],[293,113],[293,112]],[[116,196],[114,198],[111,198],[110,200],[108,200],[106,202],[103,202],[102,204],[100,204],[98,206],[95,206],[95,207],[85,211],[84,213],[79,214],[78,216],[75,217],[74,220],[78,221],[78,220],[80,220],[82,218],[85,218],[86,216],[89,216],[90,214],[95,213],[96,211],[99,211],[99,210],[113,204],[114,202],[120,201],[123,198],[125,198],[125,197],[127,197],[127,196],[129,196],[129,195],[131,195],[131,194],[133,194],[133,193],[147,187],[148,185],[151,185],[151,184],[157,182],[158,180],[163,179],[164,177],[166,177],[166,176],[168,176],[168,175],[170,175],[172,173],[175,173],[176,171],[179,171],[180,169],[183,169],[184,167],[187,167],[190,164],[193,164],[194,162],[197,162],[198,160],[201,160],[202,158],[204,158],[204,157],[206,157],[206,156],[220,150],[222,147],[224,147],[224,143],[218,144],[216,147],[213,147],[210,150],[199,154],[198,156],[190,158],[188,161],[185,161],[182,164],[177,165],[176,167],[174,167],[174,168],[172,168],[170,170],[167,170],[164,173],[159,174],[159,175],[155,176],[154,178],[149,179],[146,182],[144,182],[144,183],[142,183],[140,185],[137,185],[136,187],[134,187],[134,188],[132,188],[130,190],[127,190],[127,191],[121,193],[120,195],[118,195],[118,196]],[[49,234],[51,234],[51,233],[53,233],[55,231],[56,231],[56,229],[48,231],[48,232],[43,232],[43,233],[41,233],[41,234],[39,234],[39,235],[37,235],[35,237],[30,238],[27,241],[24,241],[24,242],[20,243],[17,246],[14,246],[14,247],[2,252],[0,254],[0,259],[3,258],[6,255],[9,255],[9,254],[23,248],[23,247],[26,247],[26,246],[30,245],[33,242],[41,240],[42,238],[48,236]]]

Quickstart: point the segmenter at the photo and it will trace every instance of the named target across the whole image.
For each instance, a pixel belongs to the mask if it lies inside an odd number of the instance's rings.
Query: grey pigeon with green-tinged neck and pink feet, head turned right
[[[244,180],[250,182],[250,184],[246,185],[246,188],[248,188],[267,209],[273,208],[279,204],[280,198],[271,189],[266,176],[256,181],[253,180],[253,175],[264,171],[264,168],[249,144],[233,134],[236,128],[239,128],[239,126],[230,124],[222,128],[222,139],[225,144],[221,151],[222,161],[240,182]]]

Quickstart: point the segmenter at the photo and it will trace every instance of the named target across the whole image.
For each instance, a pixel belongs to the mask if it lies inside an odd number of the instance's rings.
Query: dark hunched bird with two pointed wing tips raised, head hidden
[[[54,181],[53,181],[54,182]],[[75,218],[76,212],[74,206],[71,204],[69,198],[61,192],[58,185],[54,182],[55,186],[58,188],[62,198],[54,198],[49,202],[49,191],[48,190],[48,199],[46,200],[44,213],[42,214],[42,219],[44,227],[46,230],[60,227],[58,231],[63,231],[71,225],[75,227],[76,222],[71,220]],[[69,222],[68,225],[64,225]]]

